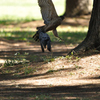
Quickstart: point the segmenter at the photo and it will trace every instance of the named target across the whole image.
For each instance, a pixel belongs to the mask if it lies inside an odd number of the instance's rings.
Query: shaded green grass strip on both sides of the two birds
[[[22,40],[22,41],[32,41],[32,36],[35,32],[32,31],[3,31],[0,32],[0,37],[7,40]],[[59,41],[54,37],[52,33],[48,33],[50,35],[52,42],[63,43],[63,41]],[[80,43],[86,36],[84,32],[59,32],[59,36],[64,40],[66,44],[78,44]]]

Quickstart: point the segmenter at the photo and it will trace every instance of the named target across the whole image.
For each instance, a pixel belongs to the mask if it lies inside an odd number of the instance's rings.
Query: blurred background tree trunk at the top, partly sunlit
[[[92,11],[93,0],[66,0],[66,17],[89,14]]]

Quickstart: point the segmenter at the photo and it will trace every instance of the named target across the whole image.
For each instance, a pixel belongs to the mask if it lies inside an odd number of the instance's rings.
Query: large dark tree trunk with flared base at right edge
[[[92,15],[86,38],[72,51],[74,53],[78,53],[80,51],[83,52],[84,50],[90,50],[94,48],[100,50],[100,0],[94,0]]]

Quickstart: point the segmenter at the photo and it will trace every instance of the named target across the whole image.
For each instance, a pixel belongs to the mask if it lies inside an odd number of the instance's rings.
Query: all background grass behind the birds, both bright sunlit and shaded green
[[[63,14],[65,7],[65,0],[53,0],[54,5],[59,15]],[[34,10],[35,9],[35,10]],[[0,1],[0,23],[2,25],[18,24],[22,22],[29,22],[32,20],[41,19],[40,8],[37,0],[1,0]],[[73,27],[68,27],[65,30],[58,28],[59,36],[63,38],[66,44],[77,44],[80,43],[86,36],[86,27],[78,27],[78,30]],[[0,29],[0,37],[7,40],[14,41],[33,41],[32,31],[19,31],[20,28],[14,28],[12,31]],[[29,30],[29,29],[27,29]],[[72,31],[71,31],[72,30]],[[60,42],[57,40],[52,33],[49,33],[52,42]]]

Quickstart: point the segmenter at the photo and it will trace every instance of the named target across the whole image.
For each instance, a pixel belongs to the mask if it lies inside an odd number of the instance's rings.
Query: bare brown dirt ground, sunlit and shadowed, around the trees
[[[86,26],[88,19],[89,16],[82,19],[69,18],[61,27]],[[19,26],[23,30],[29,26],[35,31],[40,22],[34,21]],[[12,28],[16,25],[7,27]],[[53,43],[52,45],[52,53],[48,51],[42,53],[38,43],[27,44],[27,42],[0,40],[0,100],[100,100],[100,52],[88,52],[81,55],[80,58],[61,57],[66,56],[74,47],[66,47],[63,43]],[[30,58],[32,55],[35,55],[37,59],[48,55],[57,58],[52,62],[41,60],[31,62],[29,66],[36,68],[36,71],[26,76],[14,77],[13,72],[3,74],[4,61],[16,52],[28,52],[28,60],[34,59]],[[18,69],[18,66],[15,67]],[[37,98],[41,94],[49,95],[50,98],[52,96],[55,99]]]

